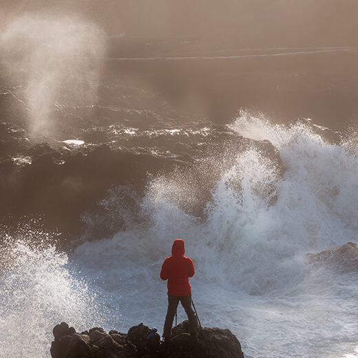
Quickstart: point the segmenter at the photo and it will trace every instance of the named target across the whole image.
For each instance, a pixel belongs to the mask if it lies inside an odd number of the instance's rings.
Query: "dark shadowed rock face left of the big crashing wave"
[[[165,159],[108,145],[53,149],[43,143],[23,149],[21,156],[10,151],[0,155],[0,215],[15,224],[37,215],[47,229],[73,233],[107,190],[128,182],[143,188],[147,174],[165,165]]]

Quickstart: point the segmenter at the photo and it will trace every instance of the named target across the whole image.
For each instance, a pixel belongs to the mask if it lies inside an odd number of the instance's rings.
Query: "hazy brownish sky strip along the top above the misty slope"
[[[357,0],[1,0],[1,28],[24,12],[79,14],[109,34],[202,36],[242,46],[355,45]]]

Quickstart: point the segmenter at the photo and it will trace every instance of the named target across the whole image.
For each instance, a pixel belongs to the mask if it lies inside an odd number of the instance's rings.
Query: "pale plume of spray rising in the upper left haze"
[[[100,28],[76,17],[28,14],[8,25],[1,58],[21,87],[17,96],[27,105],[31,134],[55,135],[67,106],[93,108],[105,39]]]

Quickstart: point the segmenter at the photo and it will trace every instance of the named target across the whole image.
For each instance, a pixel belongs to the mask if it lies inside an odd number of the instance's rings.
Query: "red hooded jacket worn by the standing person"
[[[193,260],[185,257],[184,240],[176,239],[173,242],[171,256],[167,257],[162,264],[160,278],[168,280],[168,293],[172,296],[182,297],[191,293],[189,277],[193,277]]]

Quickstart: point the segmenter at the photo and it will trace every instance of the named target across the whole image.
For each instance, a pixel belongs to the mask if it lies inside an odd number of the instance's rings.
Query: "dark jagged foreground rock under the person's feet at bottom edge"
[[[127,334],[103,328],[83,333],[66,323],[54,327],[52,358],[244,358],[240,341],[228,329],[202,328],[189,334],[189,323],[173,328],[171,341],[160,342],[156,330],[138,324]]]

